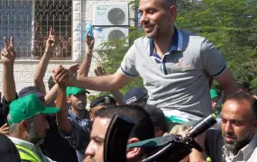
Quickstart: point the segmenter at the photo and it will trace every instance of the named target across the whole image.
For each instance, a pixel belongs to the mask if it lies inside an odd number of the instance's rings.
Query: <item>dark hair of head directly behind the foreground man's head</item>
[[[167,123],[164,113],[155,105],[145,104],[144,110],[148,112],[155,130],[167,131]]]

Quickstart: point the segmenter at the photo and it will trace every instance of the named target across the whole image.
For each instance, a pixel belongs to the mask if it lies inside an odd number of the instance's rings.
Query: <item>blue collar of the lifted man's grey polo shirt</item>
[[[172,37],[172,46],[170,47],[170,49],[167,51],[167,53],[170,53],[173,50],[177,50],[177,51],[182,51],[183,49],[183,35],[182,32],[179,31],[176,27],[174,28],[174,34]],[[154,50],[154,40],[150,39],[149,40],[149,46],[148,46],[148,52],[150,55],[152,55],[152,52]]]

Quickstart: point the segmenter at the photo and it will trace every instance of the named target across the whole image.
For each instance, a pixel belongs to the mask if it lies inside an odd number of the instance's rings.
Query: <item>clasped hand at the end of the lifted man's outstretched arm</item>
[[[66,86],[68,86],[69,78],[72,77],[72,75],[68,69],[66,69],[62,66],[59,66],[59,67],[53,69],[52,73],[53,73],[52,77],[53,77],[54,81],[58,85],[60,85],[60,87],[66,88]]]

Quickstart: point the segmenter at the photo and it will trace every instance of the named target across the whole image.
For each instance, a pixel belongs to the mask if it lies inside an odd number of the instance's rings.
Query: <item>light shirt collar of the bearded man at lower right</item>
[[[257,147],[257,133],[255,132],[250,143],[248,143],[245,147],[241,148],[238,151],[238,154],[234,157],[238,157],[241,154],[243,154],[243,160],[247,161],[252,156],[252,152],[256,147]],[[225,157],[229,157],[230,152],[228,150],[226,150],[225,146],[222,149],[225,154]]]

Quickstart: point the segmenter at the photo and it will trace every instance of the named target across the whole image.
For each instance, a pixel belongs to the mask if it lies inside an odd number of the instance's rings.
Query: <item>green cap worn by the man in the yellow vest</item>
[[[59,111],[60,108],[46,107],[35,94],[29,94],[14,100],[10,104],[8,123],[17,123],[40,113],[48,114]]]

